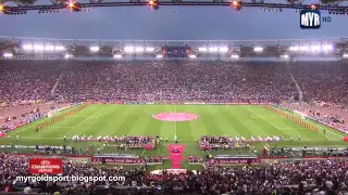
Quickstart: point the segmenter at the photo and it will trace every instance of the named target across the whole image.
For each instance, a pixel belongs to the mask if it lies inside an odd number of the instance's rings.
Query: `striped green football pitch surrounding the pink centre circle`
[[[198,118],[189,121],[162,121],[153,118],[159,113],[190,113]],[[42,119],[46,120],[46,119]],[[40,120],[40,121],[42,121]],[[345,146],[344,133],[316,122],[315,133],[277,115],[262,105],[107,105],[94,104],[67,116],[49,127],[35,130],[33,122],[8,133],[1,144],[22,145],[71,145],[84,147],[89,143],[63,142],[63,136],[73,135],[159,135],[173,142],[175,134],[181,143],[190,145],[187,154],[200,154],[198,140],[201,135],[283,136],[277,145],[296,146]],[[325,128],[326,134],[321,130]],[[18,140],[15,138],[18,135]],[[299,141],[298,138],[301,138]],[[293,141],[290,141],[293,138]],[[98,145],[99,143],[94,143]],[[101,145],[101,144],[100,144]],[[261,143],[251,144],[261,147]],[[165,151],[165,148],[162,148]],[[162,153],[157,148],[156,154]],[[186,150],[186,151],[187,151]],[[164,153],[164,152],[163,152]]]

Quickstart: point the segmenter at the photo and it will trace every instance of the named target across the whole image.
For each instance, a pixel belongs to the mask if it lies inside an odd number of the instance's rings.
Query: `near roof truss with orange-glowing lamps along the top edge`
[[[156,4],[154,10],[159,10],[162,5],[217,5],[217,6],[234,6],[240,10],[243,6],[247,8],[265,8],[265,9],[314,9],[315,10],[332,10],[343,11],[346,13],[346,4],[341,3],[343,0],[320,0],[318,4],[308,4],[304,0],[282,0],[277,2],[264,2],[264,0],[50,0],[41,2],[38,0],[4,0],[7,4],[14,2],[15,5],[8,5],[7,14],[17,15],[26,14],[26,11],[39,11],[44,13],[52,13],[62,9],[71,9],[74,12],[80,12],[89,8],[101,6],[144,6]],[[344,5],[343,5],[344,4]],[[54,11],[53,11],[54,10]],[[47,12],[48,11],[48,12]],[[51,12],[50,12],[51,11]]]

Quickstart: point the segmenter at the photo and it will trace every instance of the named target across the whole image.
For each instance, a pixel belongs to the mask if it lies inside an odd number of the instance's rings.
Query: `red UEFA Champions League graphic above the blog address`
[[[61,174],[63,162],[61,158],[30,158],[29,171],[32,174]]]

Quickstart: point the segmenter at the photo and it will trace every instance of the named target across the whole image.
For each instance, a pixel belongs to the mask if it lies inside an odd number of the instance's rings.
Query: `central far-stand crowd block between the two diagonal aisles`
[[[289,96],[294,87],[272,64],[132,62],[70,66],[58,91],[71,100],[269,102]]]

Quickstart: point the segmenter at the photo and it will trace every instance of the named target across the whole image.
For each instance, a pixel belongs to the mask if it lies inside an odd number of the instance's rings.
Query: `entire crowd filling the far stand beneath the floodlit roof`
[[[295,62],[286,67],[274,62],[3,61],[0,102],[49,100],[55,83],[55,94],[66,101],[278,102],[298,92],[291,74],[304,100],[348,102],[343,64]]]

